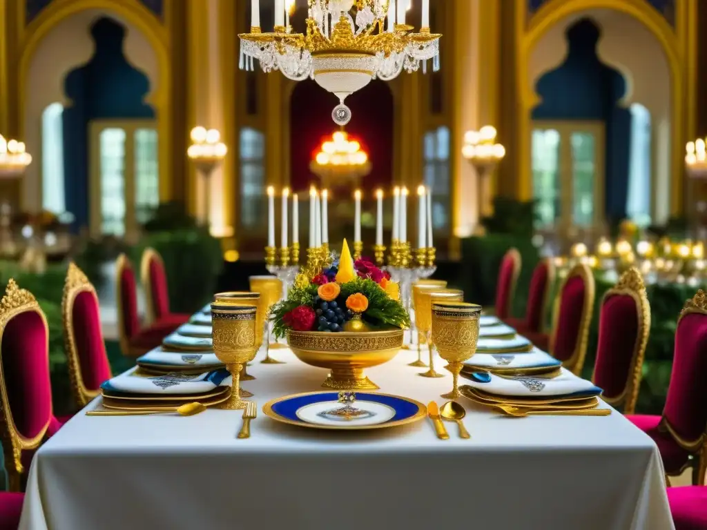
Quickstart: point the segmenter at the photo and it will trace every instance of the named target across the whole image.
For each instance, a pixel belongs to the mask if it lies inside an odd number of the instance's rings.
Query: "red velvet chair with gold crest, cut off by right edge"
[[[665,473],[677,476],[691,467],[701,485],[707,470],[707,295],[699,290],[685,302],[675,331],[670,386],[662,416],[627,416],[653,438]]]

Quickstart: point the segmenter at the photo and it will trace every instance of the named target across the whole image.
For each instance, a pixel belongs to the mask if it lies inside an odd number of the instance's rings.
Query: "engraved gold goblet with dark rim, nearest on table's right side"
[[[433,302],[432,341],[440,357],[448,363],[445,368],[452,372],[452,391],[442,394],[443,398],[457,399],[462,395],[459,391],[459,372],[464,361],[477,351],[480,315],[480,305]]]

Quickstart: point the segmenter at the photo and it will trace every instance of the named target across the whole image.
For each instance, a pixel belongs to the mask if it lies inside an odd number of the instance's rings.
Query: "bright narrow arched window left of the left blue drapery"
[[[52,103],[42,112],[42,209],[64,213],[64,105]]]

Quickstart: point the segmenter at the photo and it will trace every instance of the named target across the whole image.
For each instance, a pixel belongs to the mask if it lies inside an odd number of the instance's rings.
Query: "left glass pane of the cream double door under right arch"
[[[532,132],[532,179],[537,227],[549,228],[560,216],[560,134],[554,129]]]

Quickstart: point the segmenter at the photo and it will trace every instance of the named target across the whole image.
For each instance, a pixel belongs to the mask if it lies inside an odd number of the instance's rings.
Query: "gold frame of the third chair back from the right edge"
[[[552,334],[550,336],[550,352],[552,355],[555,353],[555,341],[557,339],[558,333],[558,323],[560,319],[560,310],[562,305],[562,293],[565,290],[567,283],[572,278],[582,278],[584,282],[584,304],[582,308],[582,316],[580,317],[580,324],[577,333],[577,342],[575,343],[575,349],[568,360],[563,360],[562,365],[567,370],[570,370],[574,375],[580,375],[582,368],[584,366],[584,360],[587,356],[587,343],[589,341],[589,326],[592,323],[592,311],[594,310],[594,298],[595,292],[595,282],[594,274],[592,269],[587,265],[580,263],[570,269],[567,276],[562,281],[560,290],[558,291],[555,298],[555,309],[553,315],[552,323]]]

